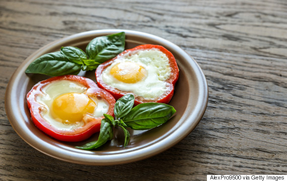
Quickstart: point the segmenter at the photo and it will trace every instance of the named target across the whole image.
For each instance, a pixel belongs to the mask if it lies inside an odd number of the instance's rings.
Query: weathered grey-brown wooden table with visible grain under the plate
[[[151,33],[195,58],[209,86],[206,112],[184,140],[142,161],[86,166],[25,143],[5,90],[38,48],[98,29]],[[287,173],[287,2],[284,0],[0,2],[0,180],[206,180],[206,174]]]

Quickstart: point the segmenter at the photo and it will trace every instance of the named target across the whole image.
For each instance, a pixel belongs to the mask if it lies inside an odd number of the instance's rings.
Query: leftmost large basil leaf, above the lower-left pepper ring
[[[48,76],[77,75],[81,71],[81,67],[81,65],[69,62],[63,54],[57,51],[38,57],[25,72]]]

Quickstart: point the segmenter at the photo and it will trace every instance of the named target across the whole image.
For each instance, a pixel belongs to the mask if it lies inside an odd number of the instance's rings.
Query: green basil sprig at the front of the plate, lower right
[[[98,148],[113,139],[113,129],[121,128],[124,133],[124,147],[128,145],[130,135],[127,128],[133,130],[150,130],[167,122],[176,112],[173,106],[163,103],[141,103],[133,107],[134,96],[127,94],[115,103],[115,117],[104,114],[100,135],[97,141],[87,143],[76,148],[91,150]],[[104,124],[104,125],[103,125]]]

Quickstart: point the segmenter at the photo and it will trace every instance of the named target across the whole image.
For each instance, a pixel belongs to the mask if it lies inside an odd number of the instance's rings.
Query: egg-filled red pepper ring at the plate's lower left
[[[114,97],[84,77],[66,75],[37,83],[27,94],[36,127],[47,135],[77,142],[100,131],[103,114],[114,115]]]

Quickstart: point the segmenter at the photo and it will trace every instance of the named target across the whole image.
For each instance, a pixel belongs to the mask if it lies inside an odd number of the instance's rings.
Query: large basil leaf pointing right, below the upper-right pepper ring
[[[163,103],[141,103],[122,119],[133,130],[149,130],[165,122],[176,112],[173,106]]]

